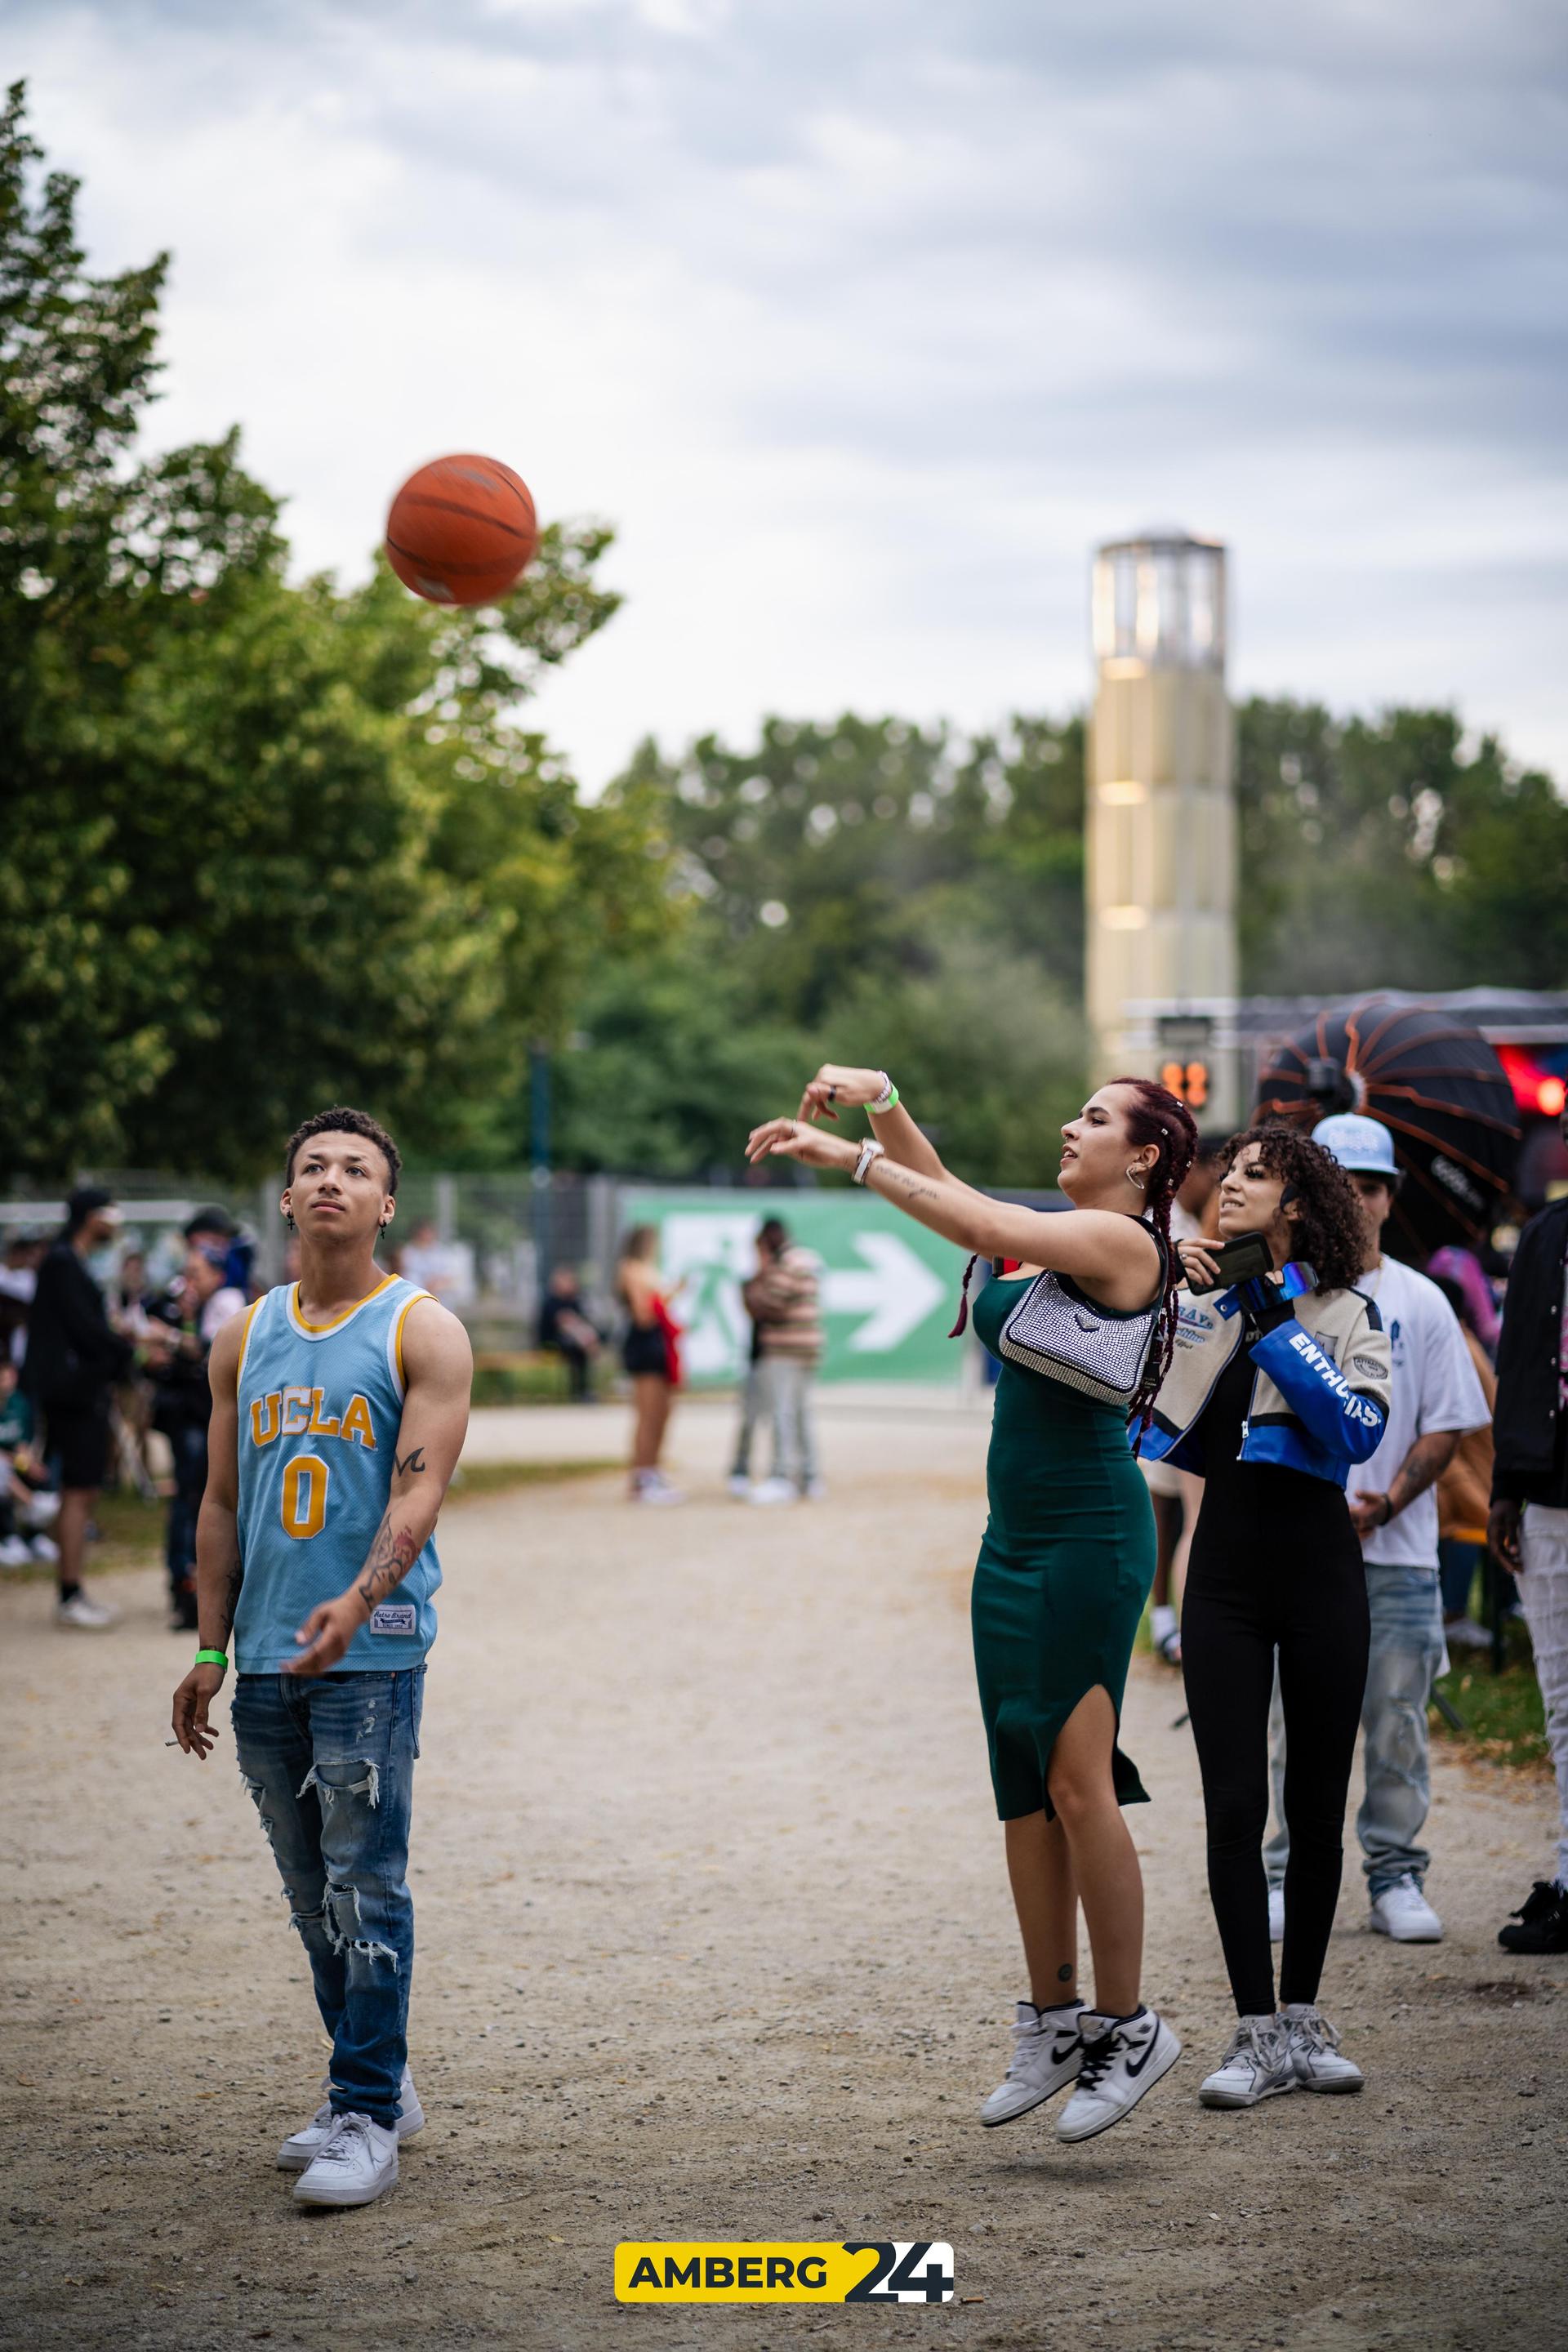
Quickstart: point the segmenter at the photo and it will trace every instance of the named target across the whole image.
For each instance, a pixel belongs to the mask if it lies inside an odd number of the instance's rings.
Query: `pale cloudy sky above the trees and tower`
[[[487,449],[618,529],[590,786],[762,710],[1079,703],[1098,539],[1232,546],[1237,691],[1568,779],[1559,0],[2,0],[158,442],[303,567]]]

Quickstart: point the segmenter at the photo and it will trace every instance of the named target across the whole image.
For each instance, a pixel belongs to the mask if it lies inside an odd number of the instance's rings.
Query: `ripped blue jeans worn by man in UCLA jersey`
[[[240,1675],[233,1726],[331,2034],[331,2107],[395,2124],[407,2060],[409,1816],[425,1691],[397,1675]]]

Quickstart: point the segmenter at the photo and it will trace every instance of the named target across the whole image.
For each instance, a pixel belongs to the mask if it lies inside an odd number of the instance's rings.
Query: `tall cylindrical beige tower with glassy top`
[[[1237,814],[1225,548],[1187,532],[1103,546],[1086,809],[1093,1077],[1194,1070],[1199,1122],[1234,1117]]]

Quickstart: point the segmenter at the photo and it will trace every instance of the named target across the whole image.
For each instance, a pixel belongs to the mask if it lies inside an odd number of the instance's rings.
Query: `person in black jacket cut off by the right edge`
[[[1568,1143],[1568,1112],[1563,1112]],[[1505,1952],[1568,1952],[1568,1197],[1519,1235],[1497,1345],[1493,1552],[1519,1576],[1556,1766],[1556,1877],[1505,1926]]]

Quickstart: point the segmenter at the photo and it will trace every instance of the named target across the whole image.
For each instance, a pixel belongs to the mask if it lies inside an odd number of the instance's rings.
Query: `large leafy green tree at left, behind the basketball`
[[[357,1096],[489,1155],[531,1040],[663,936],[651,795],[585,807],[512,710],[604,626],[602,529],[498,609],[292,588],[237,435],[136,466],[162,261],[94,280],[0,118],[5,1155],[252,1174]]]

